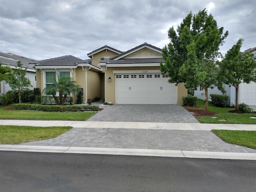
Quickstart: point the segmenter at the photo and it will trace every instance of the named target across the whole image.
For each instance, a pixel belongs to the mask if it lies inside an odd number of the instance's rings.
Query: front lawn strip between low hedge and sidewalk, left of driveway
[[[9,106],[0,107],[0,119],[19,120],[69,120],[86,121],[97,112],[42,112],[29,110],[4,110]]]

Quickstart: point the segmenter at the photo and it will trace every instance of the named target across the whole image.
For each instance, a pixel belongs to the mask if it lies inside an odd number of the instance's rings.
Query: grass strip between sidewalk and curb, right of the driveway
[[[256,131],[214,129],[212,132],[227,143],[256,149]]]

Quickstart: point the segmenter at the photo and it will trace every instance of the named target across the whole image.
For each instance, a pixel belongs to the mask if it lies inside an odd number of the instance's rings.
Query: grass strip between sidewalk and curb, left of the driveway
[[[25,142],[56,138],[72,127],[33,127],[0,125],[1,144],[19,144]]]

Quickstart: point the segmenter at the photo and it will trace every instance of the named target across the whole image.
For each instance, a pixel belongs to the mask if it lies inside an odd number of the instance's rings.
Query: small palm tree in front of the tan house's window
[[[60,77],[54,79],[53,83],[44,88],[43,92],[51,94],[58,105],[64,105],[68,94],[80,91],[80,87],[70,77]],[[59,93],[59,98],[56,96],[56,92]]]

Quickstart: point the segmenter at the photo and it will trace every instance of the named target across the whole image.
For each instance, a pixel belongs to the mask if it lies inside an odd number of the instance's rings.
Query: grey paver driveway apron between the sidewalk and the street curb
[[[198,130],[73,128],[57,138],[22,145],[256,153]]]

